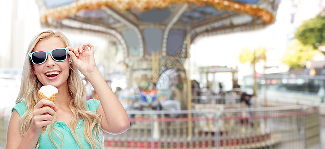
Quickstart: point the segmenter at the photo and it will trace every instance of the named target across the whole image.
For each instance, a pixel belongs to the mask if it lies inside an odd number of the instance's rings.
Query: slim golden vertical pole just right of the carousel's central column
[[[186,28],[186,32],[187,32],[187,35],[186,35],[186,40],[187,40],[187,53],[189,53],[189,47],[191,45],[191,32],[190,32],[190,26],[187,26]],[[192,110],[192,88],[191,88],[191,79],[190,79],[190,74],[191,74],[191,62],[189,61],[189,55],[187,54],[186,55],[186,59],[188,60],[188,68],[187,68],[187,110]],[[192,118],[192,114],[191,113],[188,113],[188,119],[189,121],[187,121],[188,123],[188,137],[187,137],[187,140],[192,140],[192,121],[190,121],[190,119]]]

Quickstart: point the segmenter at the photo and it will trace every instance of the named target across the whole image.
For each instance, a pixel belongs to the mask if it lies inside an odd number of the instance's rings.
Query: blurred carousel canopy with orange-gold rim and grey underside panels
[[[170,49],[198,36],[262,28],[275,20],[279,0],[36,0],[43,26],[115,36],[128,55]],[[186,35],[189,34],[189,38]],[[168,42],[167,42],[168,41]]]

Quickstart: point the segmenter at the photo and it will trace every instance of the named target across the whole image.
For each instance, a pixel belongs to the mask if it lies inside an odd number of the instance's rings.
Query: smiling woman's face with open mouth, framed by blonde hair
[[[32,52],[49,51],[56,48],[66,48],[66,46],[59,38],[51,37],[39,41]],[[48,54],[47,60],[44,63],[39,65],[33,64],[33,67],[33,73],[43,85],[52,85],[56,88],[61,86],[67,87],[69,57],[65,61],[57,62]]]

